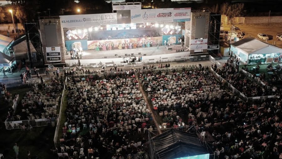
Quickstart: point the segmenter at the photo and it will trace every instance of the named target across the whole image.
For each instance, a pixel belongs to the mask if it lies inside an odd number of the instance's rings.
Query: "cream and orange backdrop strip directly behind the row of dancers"
[[[142,43],[142,41],[148,41],[148,40],[153,40],[153,46],[157,45],[157,42],[161,42],[162,37],[158,36],[158,37],[148,37],[148,38],[130,38],[130,39],[113,39],[113,40],[92,40],[92,41],[87,41],[87,45],[88,45],[88,50],[90,49],[96,49],[97,45],[99,45],[99,43],[104,44],[107,43],[108,45],[114,43],[114,47],[117,48],[118,44],[122,44],[124,43],[134,43],[134,42],[139,42],[139,47]],[[84,49],[83,49],[84,50]]]

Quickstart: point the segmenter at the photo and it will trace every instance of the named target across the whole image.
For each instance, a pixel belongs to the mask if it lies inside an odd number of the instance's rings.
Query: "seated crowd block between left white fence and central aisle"
[[[145,135],[155,126],[135,71],[105,78],[69,77],[67,121],[60,152],[72,158],[144,155]]]

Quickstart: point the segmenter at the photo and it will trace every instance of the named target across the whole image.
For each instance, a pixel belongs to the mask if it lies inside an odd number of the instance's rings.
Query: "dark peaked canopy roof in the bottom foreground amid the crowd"
[[[207,154],[195,134],[170,129],[149,140],[157,158],[174,159],[186,156]]]

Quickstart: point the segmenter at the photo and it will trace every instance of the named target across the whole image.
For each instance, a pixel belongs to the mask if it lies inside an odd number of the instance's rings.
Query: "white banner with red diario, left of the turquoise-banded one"
[[[173,8],[154,9],[156,12],[156,22],[173,22]]]

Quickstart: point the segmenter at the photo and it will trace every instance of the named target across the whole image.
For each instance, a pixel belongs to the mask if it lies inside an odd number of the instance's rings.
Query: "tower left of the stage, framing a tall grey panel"
[[[61,26],[61,21],[60,18],[52,18],[52,19],[39,19],[39,26],[40,26],[40,37],[41,37],[41,42],[42,42],[42,50],[43,50],[43,56],[44,56],[44,61],[46,63],[50,63],[47,61],[46,57],[46,37],[45,37],[45,30],[44,30],[44,25],[56,25],[56,31],[57,31],[57,38],[58,40],[58,46],[60,46],[60,51],[61,51],[61,61],[62,63],[65,62],[65,41],[64,41],[64,36],[62,33],[62,26]]]

